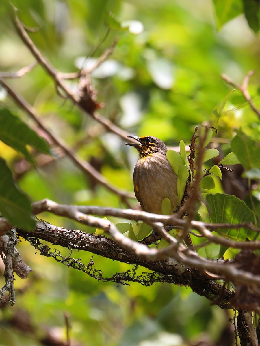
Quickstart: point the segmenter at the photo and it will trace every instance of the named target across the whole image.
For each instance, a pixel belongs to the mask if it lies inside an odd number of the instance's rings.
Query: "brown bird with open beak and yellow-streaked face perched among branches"
[[[154,136],[127,136],[138,143],[125,143],[138,151],[138,160],[133,172],[133,185],[136,199],[144,211],[162,214],[162,201],[171,202],[171,213],[178,204],[177,175],[167,160],[167,148],[164,142]],[[190,235],[184,241],[193,248]]]

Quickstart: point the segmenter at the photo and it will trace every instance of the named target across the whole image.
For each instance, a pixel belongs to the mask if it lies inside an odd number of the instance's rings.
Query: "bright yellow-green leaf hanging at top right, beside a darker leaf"
[[[247,0],[245,0],[247,1]],[[243,13],[241,0],[213,0],[217,31],[229,20]]]

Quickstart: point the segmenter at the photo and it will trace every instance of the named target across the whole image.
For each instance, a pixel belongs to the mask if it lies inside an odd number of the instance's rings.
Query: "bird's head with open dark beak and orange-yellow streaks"
[[[147,155],[153,154],[155,152],[160,152],[166,154],[167,148],[163,141],[154,136],[128,136],[137,140],[139,143],[125,143],[126,145],[131,145],[135,147],[139,153],[139,158],[145,157]]]

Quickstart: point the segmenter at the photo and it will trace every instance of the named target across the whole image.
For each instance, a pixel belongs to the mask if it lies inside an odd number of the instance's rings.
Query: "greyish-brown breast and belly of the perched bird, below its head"
[[[137,179],[138,177],[138,179]],[[143,210],[162,213],[162,201],[167,197],[171,202],[171,212],[176,209],[177,176],[170,164],[161,167],[158,162],[137,163],[134,171],[136,197]]]

